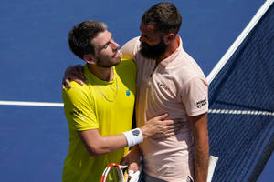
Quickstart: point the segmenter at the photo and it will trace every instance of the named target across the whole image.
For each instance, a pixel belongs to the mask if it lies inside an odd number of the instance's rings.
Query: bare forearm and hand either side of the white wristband
[[[166,120],[167,114],[153,117],[145,126],[142,126],[143,139],[150,136],[168,137],[180,128],[173,120]],[[127,147],[127,140],[123,134],[100,136],[98,129],[78,131],[79,138],[84,143],[91,156],[100,156]]]

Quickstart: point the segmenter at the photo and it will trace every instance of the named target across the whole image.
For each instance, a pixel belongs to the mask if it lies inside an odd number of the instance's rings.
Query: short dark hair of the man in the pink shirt
[[[177,34],[182,24],[182,16],[175,5],[162,2],[144,12],[142,23],[153,23],[159,32]]]

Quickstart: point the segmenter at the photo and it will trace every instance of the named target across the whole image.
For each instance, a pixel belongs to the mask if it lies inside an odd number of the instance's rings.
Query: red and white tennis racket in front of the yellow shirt
[[[122,169],[125,168],[127,168],[127,166],[111,163],[105,168],[100,178],[100,182],[138,182],[142,167],[140,167],[139,171],[134,173],[129,171],[129,174],[126,170],[125,173],[123,173]],[[129,178],[129,175],[131,178]]]

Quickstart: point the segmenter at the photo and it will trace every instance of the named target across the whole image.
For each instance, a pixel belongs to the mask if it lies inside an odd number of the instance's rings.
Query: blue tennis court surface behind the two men
[[[123,45],[140,35],[141,15],[159,1],[2,0],[0,101],[61,103],[61,78],[83,64],[68,50],[68,31],[88,19],[109,25]],[[184,49],[207,76],[264,0],[171,1],[183,16]],[[68,150],[62,107],[0,106],[1,181],[61,181]],[[258,181],[273,181],[270,159]]]

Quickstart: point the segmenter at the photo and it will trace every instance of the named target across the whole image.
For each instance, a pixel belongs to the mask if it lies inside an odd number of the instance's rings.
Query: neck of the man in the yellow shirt
[[[101,67],[96,65],[88,65],[90,72],[100,78],[101,80],[110,82],[113,80],[114,71],[113,66],[111,67]]]

